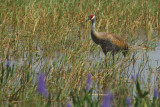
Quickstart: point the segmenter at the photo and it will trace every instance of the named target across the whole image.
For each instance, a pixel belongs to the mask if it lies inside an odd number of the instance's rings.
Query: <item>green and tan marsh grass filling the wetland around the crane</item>
[[[110,90],[115,96],[113,105],[126,106],[125,99],[134,97],[135,91],[126,69],[143,56],[134,57],[132,53],[137,54],[135,47],[141,45],[148,50],[156,47],[154,41],[159,38],[160,29],[159,10],[159,0],[2,0],[1,104],[65,106],[71,102],[74,106],[82,106],[74,102],[75,97],[90,105],[92,98],[89,96],[98,94],[96,106],[101,104],[104,91]],[[118,54],[116,64],[105,66],[104,55],[100,53],[102,50],[91,40],[90,24],[85,23],[89,14],[96,15],[98,31],[120,34],[130,44],[126,58],[122,59]],[[139,43],[139,38],[144,37],[140,29],[146,32],[142,43]],[[108,60],[112,59],[108,56]],[[7,61],[10,61],[10,67],[6,67]],[[145,60],[140,65],[142,70],[144,64]],[[41,72],[46,74],[48,98],[36,92]],[[96,93],[84,92],[88,73],[92,75],[91,88]],[[83,99],[84,96],[88,96],[87,100]],[[134,99],[133,104],[136,104]],[[144,101],[138,104],[143,105]]]

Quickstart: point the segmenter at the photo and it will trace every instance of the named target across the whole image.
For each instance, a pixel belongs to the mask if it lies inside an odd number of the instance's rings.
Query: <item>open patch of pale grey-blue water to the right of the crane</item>
[[[154,83],[154,78],[158,73],[157,68],[160,67],[160,42],[157,42],[156,45],[157,47],[154,50],[137,50],[135,55],[137,60],[134,65],[132,64],[129,67],[129,71],[132,74],[136,75],[139,72],[140,78],[142,78],[144,82],[148,82],[148,76],[151,75],[152,83]]]

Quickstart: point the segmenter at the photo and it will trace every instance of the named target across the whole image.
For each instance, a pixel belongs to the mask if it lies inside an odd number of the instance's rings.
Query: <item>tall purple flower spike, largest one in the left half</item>
[[[48,91],[46,89],[46,83],[45,83],[45,74],[41,73],[38,78],[38,86],[37,91],[42,94],[44,97],[47,97]]]

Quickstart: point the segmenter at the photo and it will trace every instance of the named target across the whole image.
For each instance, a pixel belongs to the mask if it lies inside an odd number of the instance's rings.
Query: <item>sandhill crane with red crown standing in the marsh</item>
[[[105,56],[107,52],[112,52],[113,63],[114,63],[114,55],[122,51],[123,55],[126,56],[128,52],[127,43],[117,34],[107,33],[107,32],[97,32],[96,31],[96,17],[94,15],[90,15],[88,20],[91,20],[91,37],[92,40],[101,46],[103,53]],[[87,20],[87,21],[88,21]]]

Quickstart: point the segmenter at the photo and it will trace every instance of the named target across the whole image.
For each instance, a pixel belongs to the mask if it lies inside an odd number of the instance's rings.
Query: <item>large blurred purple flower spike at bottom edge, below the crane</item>
[[[101,107],[112,107],[113,95],[109,92],[103,97]]]

